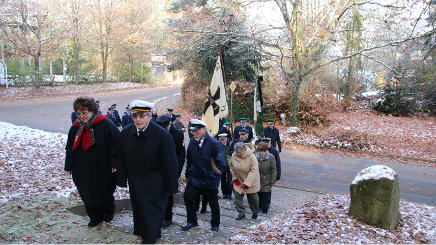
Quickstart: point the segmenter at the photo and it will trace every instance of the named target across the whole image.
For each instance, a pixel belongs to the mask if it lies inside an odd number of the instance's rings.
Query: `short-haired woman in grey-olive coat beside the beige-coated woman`
[[[263,215],[266,215],[271,203],[272,186],[276,183],[277,167],[274,156],[268,152],[267,143],[259,143],[257,150],[255,156],[259,164],[260,174],[260,191],[257,193],[259,195],[259,212],[261,211]]]

